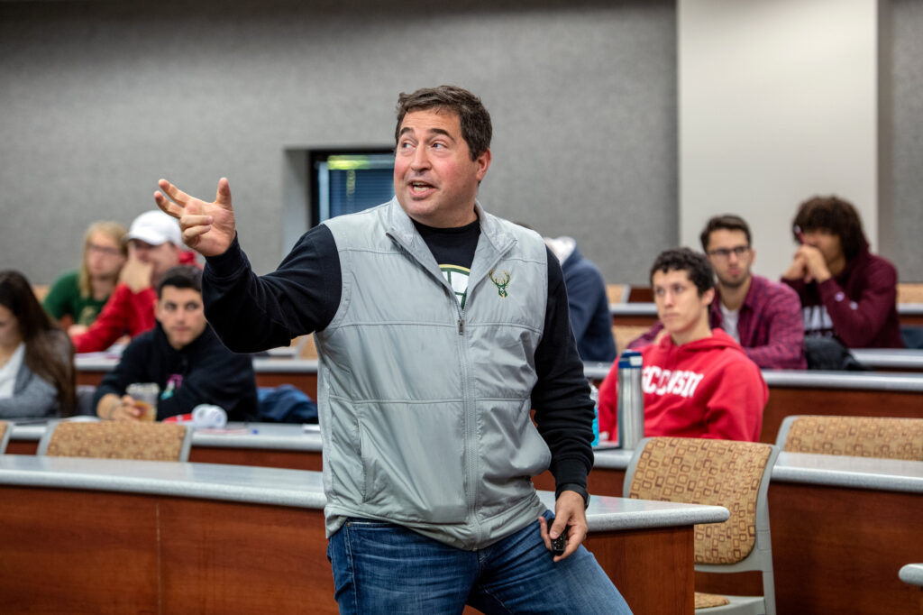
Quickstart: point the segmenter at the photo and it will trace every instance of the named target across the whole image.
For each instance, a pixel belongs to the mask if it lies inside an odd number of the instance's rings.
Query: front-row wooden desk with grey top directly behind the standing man
[[[2,455],[4,611],[335,613],[324,501],[315,472]],[[586,544],[635,612],[686,614],[692,524],[727,516],[595,498]]]

